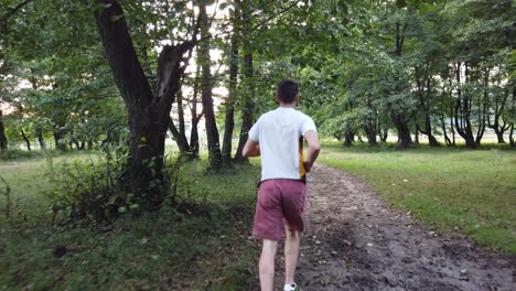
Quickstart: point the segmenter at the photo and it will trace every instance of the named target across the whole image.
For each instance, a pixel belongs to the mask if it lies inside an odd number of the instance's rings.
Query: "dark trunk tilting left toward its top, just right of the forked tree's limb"
[[[212,96],[212,73],[209,60],[209,23],[206,14],[206,6],[202,3],[198,7],[198,18],[201,21],[201,35],[202,43],[198,47],[198,61],[202,67],[202,99],[204,121],[206,125],[206,137],[208,143],[208,160],[209,168],[219,169],[222,166],[221,144],[215,121],[215,112],[213,110],[213,96]]]

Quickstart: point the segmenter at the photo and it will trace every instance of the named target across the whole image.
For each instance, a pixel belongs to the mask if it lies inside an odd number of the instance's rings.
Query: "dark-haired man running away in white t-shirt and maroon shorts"
[[[284,291],[299,290],[294,282],[300,231],[304,230],[302,213],[307,173],[318,159],[321,146],[313,120],[294,109],[299,85],[283,79],[278,85],[276,101],[280,107],[262,115],[249,130],[244,157],[261,155],[261,183],[256,205],[252,236],[264,241],[259,261],[262,291],[272,291],[275,257],[284,231]],[[308,157],[303,159],[303,137]]]

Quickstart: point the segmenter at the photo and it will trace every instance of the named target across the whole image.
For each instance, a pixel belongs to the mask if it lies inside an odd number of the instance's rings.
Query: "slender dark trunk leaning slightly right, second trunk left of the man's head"
[[[238,4],[240,1],[236,1]],[[224,122],[224,140],[222,148],[222,158],[225,164],[229,164],[232,160],[232,146],[233,146],[233,130],[235,128],[235,98],[238,76],[238,19],[239,7],[235,8],[235,15],[233,20],[233,34],[232,34],[232,55],[229,63],[229,88],[226,100],[226,119]]]

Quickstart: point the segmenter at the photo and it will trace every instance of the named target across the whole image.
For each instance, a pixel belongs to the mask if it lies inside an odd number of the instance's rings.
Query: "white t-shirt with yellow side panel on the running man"
[[[316,131],[308,115],[279,107],[262,115],[249,130],[249,139],[260,144],[261,181],[304,179],[303,136]]]

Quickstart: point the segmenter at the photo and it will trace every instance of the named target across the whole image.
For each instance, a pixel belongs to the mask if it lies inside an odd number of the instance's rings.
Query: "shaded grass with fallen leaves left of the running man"
[[[84,159],[56,162],[71,158]],[[39,194],[50,186],[43,165],[0,168],[18,204],[15,224],[0,213],[0,290],[245,290],[256,283],[257,248],[248,239],[256,166],[209,174],[192,162],[181,173],[179,192],[191,202],[182,212],[165,206],[109,226],[69,228],[50,225],[49,202]]]

